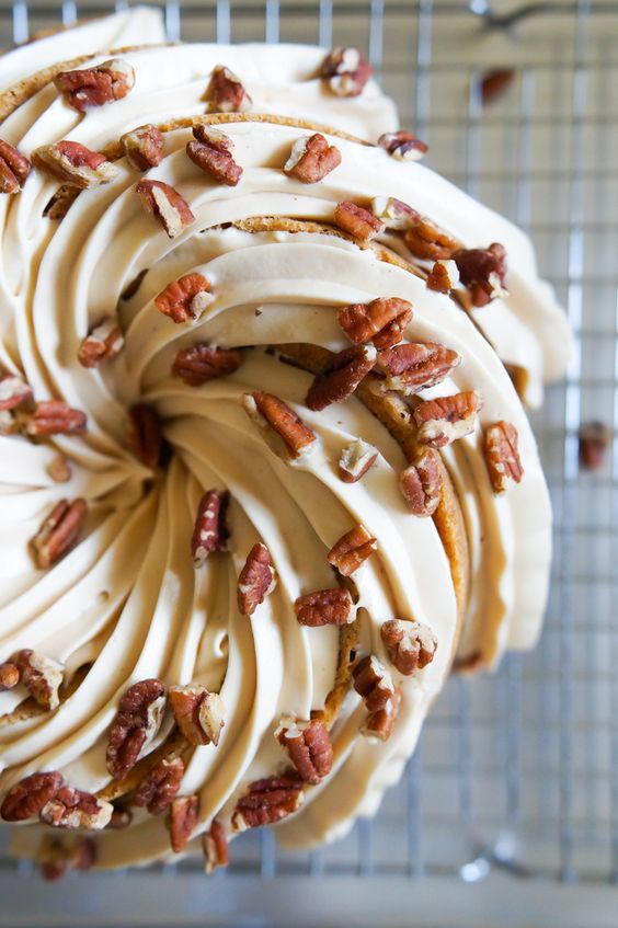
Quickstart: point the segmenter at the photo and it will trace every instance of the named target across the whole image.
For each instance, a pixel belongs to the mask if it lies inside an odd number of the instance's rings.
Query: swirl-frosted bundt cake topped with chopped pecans
[[[356,48],[165,45],[138,8],[0,88],[13,851],[56,878],[332,840],[454,666],[538,638],[524,405],[562,311]]]

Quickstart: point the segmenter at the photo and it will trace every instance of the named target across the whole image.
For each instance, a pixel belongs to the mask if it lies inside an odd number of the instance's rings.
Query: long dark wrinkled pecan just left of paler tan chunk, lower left
[[[107,742],[107,769],[125,780],[144,748],[161,726],[165,711],[165,687],[160,680],[146,679],[130,686],[118,704]]]

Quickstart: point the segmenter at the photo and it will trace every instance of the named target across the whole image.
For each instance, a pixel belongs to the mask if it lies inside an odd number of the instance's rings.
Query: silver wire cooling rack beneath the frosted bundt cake
[[[0,43],[111,9],[0,2]],[[618,448],[582,474],[577,431],[594,419],[618,434],[618,3],[170,0],[162,10],[172,39],[368,48],[402,124],[430,144],[431,167],[533,236],[575,333],[566,381],[534,416],[556,513],[548,618],[534,654],[449,683],[401,784],[339,844],[289,853],[272,833],[249,834],[208,884],[183,863],[172,882],[160,871],[80,875],[68,893],[27,894],[18,890],[27,864],[0,852],[0,896],[20,900],[9,921],[0,905],[0,924],[410,925],[426,910],[432,925],[484,925],[484,912],[493,926],[616,926],[618,890],[605,886],[618,883]],[[480,80],[494,67],[515,77],[483,105]],[[484,902],[461,920],[465,885],[481,882],[497,890],[478,885]],[[558,883],[579,889],[553,895]]]

